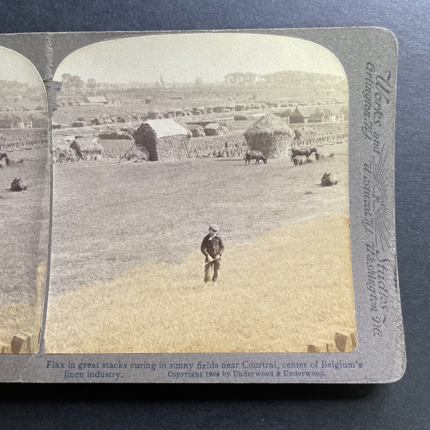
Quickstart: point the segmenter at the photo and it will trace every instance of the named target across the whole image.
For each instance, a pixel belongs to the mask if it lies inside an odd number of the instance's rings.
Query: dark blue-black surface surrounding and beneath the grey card
[[[428,429],[429,1],[0,0],[0,32],[381,26],[399,42],[396,234],[407,353],[385,385],[0,384],[0,428]],[[1,67],[1,65],[0,65]]]

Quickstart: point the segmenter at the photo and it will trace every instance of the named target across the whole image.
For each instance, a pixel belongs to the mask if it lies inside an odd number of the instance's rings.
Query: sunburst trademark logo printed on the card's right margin
[[[381,156],[364,163],[364,219],[365,230],[375,236],[376,245],[383,251],[390,249],[391,235],[388,230],[388,178],[385,165],[388,151],[382,148]]]

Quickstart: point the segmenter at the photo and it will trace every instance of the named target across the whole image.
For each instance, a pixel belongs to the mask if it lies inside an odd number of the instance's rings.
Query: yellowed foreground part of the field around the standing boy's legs
[[[49,353],[307,352],[355,331],[343,215],[229,243],[222,279],[203,283],[199,251],[49,301]]]

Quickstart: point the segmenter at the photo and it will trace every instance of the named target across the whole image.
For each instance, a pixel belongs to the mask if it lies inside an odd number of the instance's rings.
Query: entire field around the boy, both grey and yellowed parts
[[[353,330],[347,145],[319,150],[335,158],[55,165],[49,352],[302,351]]]

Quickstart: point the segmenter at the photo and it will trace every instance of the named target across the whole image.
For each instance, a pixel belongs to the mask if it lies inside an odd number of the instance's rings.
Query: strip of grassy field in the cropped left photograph
[[[49,222],[48,148],[7,153],[25,164],[0,162],[1,341],[10,341],[16,329],[30,330],[40,320],[40,306],[34,302],[43,294],[37,294],[36,274],[46,264]],[[14,178],[22,178],[28,189],[12,193]]]

